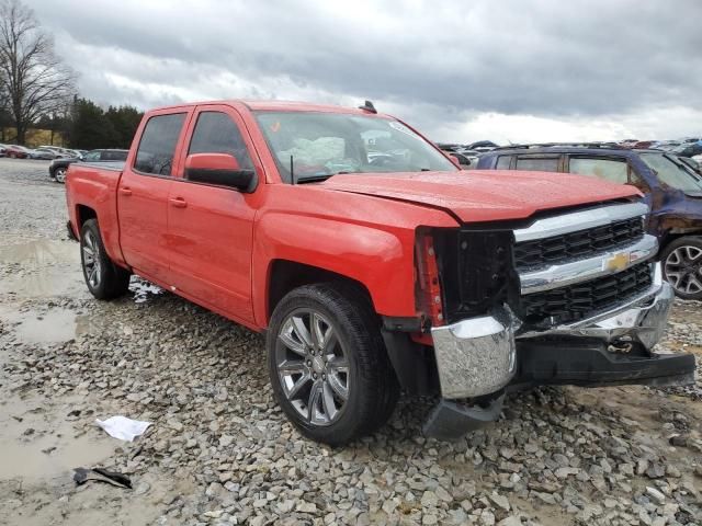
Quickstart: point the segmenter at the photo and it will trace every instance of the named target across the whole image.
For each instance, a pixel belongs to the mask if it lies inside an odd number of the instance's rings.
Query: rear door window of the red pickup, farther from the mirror
[[[184,113],[157,115],[149,118],[136,151],[134,169],[143,173],[170,175]]]

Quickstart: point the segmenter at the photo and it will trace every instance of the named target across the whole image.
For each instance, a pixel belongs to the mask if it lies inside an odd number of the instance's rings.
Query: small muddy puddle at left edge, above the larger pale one
[[[46,312],[24,312],[0,309],[0,319],[11,324],[11,330],[24,343],[58,343],[72,340],[90,330],[89,317],[78,316],[68,309],[54,308]]]

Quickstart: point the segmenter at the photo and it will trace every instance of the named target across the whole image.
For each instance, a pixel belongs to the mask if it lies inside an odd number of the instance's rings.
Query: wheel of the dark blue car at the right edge
[[[682,299],[702,300],[702,237],[678,238],[660,253],[663,275]]]

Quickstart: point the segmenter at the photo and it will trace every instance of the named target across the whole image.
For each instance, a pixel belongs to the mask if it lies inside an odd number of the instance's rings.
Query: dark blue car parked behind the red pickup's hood
[[[702,299],[702,178],[673,153],[614,145],[524,145],[479,157],[478,170],[577,173],[636,186],[652,208],[666,279],[683,299]],[[497,175],[497,174],[496,174]]]

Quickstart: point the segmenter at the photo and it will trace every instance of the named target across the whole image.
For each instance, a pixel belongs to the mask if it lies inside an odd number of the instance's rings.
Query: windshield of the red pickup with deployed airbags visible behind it
[[[453,172],[457,168],[398,121],[371,115],[258,112],[257,119],[284,181],[337,173]]]

